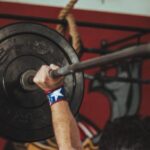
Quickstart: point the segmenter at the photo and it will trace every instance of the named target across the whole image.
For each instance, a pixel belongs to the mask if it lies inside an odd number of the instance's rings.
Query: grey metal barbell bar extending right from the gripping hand
[[[140,46],[137,45],[131,48],[126,48],[122,51],[120,50],[120,51],[113,52],[104,56],[100,56],[100,57],[92,58],[92,59],[82,61],[79,63],[64,66],[57,70],[51,71],[50,76],[53,78],[57,78],[60,76],[72,74],[74,72],[80,72],[85,69],[90,69],[92,67],[108,65],[112,62],[116,62],[116,61],[123,60],[126,58],[133,58],[137,56],[143,57],[147,55],[150,55],[150,44],[143,44]]]

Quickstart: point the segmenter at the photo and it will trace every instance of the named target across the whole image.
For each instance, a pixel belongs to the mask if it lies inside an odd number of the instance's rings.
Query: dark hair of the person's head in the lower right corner
[[[108,122],[103,130],[100,150],[150,150],[150,117],[126,116]]]

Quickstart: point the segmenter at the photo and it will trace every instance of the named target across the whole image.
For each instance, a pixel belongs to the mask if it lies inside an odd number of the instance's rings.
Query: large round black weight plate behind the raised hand
[[[65,66],[79,62],[68,42],[56,31],[34,23],[0,29],[0,135],[17,141],[37,141],[53,135],[45,94],[24,90],[21,75],[42,64]],[[83,97],[83,75],[65,77],[66,97],[75,115]]]

